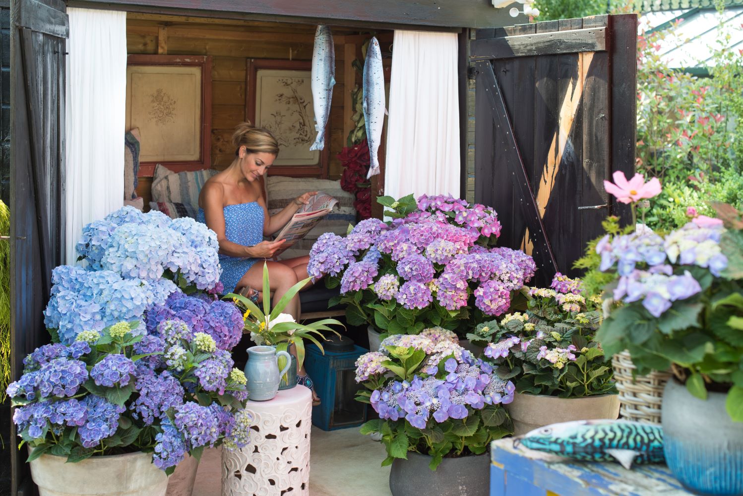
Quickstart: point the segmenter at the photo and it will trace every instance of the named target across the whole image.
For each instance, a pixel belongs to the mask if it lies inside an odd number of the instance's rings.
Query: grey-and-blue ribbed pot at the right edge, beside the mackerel
[[[743,495],[743,422],[725,410],[726,394],[692,396],[675,379],[663,391],[663,453],[671,473],[690,492]]]

